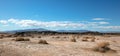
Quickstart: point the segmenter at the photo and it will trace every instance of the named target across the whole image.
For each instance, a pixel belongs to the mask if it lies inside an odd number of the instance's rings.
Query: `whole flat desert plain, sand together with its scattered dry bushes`
[[[2,37],[0,56],[120,56],[120,36],[60,34]]]

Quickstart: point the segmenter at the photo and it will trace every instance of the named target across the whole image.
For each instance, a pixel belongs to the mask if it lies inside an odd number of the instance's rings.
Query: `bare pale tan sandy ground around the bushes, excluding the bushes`
[[[55,37],[55,36],[54,36]],[[30,38],[30,41],[12,41],[13,38],[0,39],[0,56],[120,56],[120,36],[95,36],[99,40],[95,42],[83,42],[81,37],[77,42],[70,42],[71,36],[43,36],[42,38]],[[45,39],[49,44],[38,44],[37,41]],[[97,42],[110,42],[110,48],[117,52],[100,53],[91,48]]]

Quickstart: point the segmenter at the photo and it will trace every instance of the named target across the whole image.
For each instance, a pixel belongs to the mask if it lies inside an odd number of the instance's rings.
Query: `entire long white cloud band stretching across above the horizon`
[[[101,28],[101,29],[120,29],[120,26],[103,26],[104,24],[110,24],[109,22],[72,22],[72,21],[37,21],[37,20],[19,20],[19,19],[8,19],[0,20],[3,25],[17,25],[20,27],[50,27],[50,28]]]

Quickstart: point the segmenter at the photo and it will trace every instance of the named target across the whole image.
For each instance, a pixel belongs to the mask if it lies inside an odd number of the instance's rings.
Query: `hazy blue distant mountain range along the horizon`
[[[16,33],[16,32],[27,32],[27,31],[55,31],[55,30],[48,30],[44,28],[37,28],[37,29],[23,29],[23,30],[11,30],[11,31],[5,31],[5,33]],[[96,32],[96,31],[90,31],[90,30],[56,30],[56,32],[76,32],[76,33],[84,33],[84,32]],[[100,33],[120,33],[116,31],[99,31]]]

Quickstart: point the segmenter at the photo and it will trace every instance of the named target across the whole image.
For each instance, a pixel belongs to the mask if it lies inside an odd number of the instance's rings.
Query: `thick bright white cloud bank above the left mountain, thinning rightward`
[[[3,21],[2,21],[3,22]],[[50,22],[44,22],[44,21],[36,21],[36,20],[18,20],[18,19],[8,19],[4,20],[5,23],[12,23],[15,25],[19,25],[22,27],[82,27],[84,24],[82,23],[72,23],[67,21],[50,21]]]

